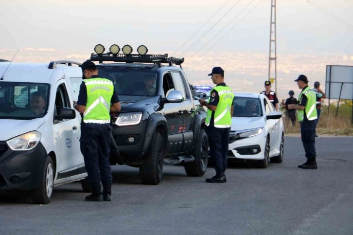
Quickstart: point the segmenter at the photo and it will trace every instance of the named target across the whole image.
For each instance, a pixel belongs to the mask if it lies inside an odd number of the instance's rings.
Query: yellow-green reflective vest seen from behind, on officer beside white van
[[[105,78],[84,80],[87,88],[87,104],[83,113],[84,123],[110,123],[110,100],[114,93],[113,82]]]

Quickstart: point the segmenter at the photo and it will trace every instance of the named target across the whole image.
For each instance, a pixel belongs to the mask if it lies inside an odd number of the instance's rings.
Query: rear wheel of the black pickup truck
[[[188,176],[203,176],[209,161],[209,141],[204,129],[200,130],[193,156],[194,162],[185,163],[185,172]]]

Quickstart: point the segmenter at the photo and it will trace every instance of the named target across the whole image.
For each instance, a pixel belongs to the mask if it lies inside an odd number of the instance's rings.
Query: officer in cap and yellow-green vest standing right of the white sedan
[[[288,105],[288,109],[297,110],[298,121],[300,122],[301,141],[305,150],[306,163],[299,165],[302,169],[318,169],[316,163],[315,149],[315,122],[318,118],[316,111],[316,94],[308,86],[308,78],[299,75],[295,80],[301,90],[298,105]]]

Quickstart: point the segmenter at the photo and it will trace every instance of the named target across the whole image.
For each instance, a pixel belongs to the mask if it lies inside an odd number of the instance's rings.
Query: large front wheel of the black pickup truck
[[[159,132],[155,132],[151,152],[140,167],[140,178],[143,184],[157,185],[162,180],[164,148],[162,136]]]

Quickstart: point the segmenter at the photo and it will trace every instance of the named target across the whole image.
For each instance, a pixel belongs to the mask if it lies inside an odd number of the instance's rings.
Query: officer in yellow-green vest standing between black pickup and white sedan
[[[210,98],[199,100],[206,106],[206,133],[210,143],[210,156],[214,160],[216,175],[206,179],[209,183],[227,182],[225,171],[228,159],[228,141],[231,127],[231,113],[233,113],[233,91],[224,82],[224,71],[221,67],[214,67],[209,74],[212,82],[216,84],[210,91]]]

